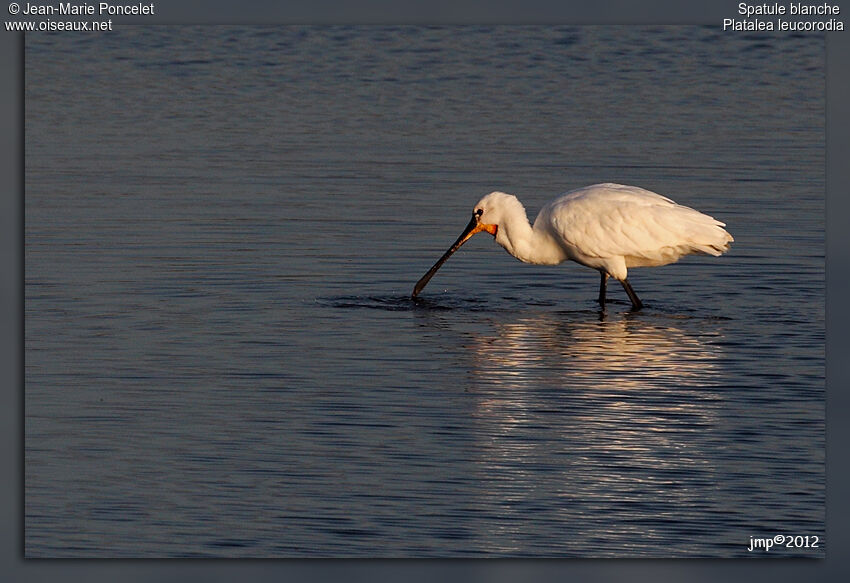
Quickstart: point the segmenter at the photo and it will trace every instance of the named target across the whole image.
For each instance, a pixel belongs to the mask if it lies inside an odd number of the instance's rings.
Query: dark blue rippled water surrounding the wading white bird
[[[824,556],[823,128],[817,36],[29,35],[27,556]],[[409,299],[602,181],[735,243]]]

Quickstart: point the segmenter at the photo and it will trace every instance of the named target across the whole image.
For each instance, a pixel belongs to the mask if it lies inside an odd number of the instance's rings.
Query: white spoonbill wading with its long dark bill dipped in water
[[[475,205],[472,220],[439,261],[416,282],[412,298],[470,237],[486,231],[525,263],[557,265],[568,259],[601,274],[605,306],[608,277],[623,284],[632,309],[643,307],[627,279],[629,267],[674,263],[684,255],[721,255],[732,235],[725,223],[637,186],[594,184],[562,194],[544,206],[532,226],[517,197],[491,192]]]

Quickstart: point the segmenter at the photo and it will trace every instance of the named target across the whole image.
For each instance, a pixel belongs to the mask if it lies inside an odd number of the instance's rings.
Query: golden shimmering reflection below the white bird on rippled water
[[[467,333],[481,502],[517,516],[490,533],[494,550],[519,551],[512,541],[529,528],[588,520],[606,548],[657,549],[664,524],[722,506],[721,336],[709,322],[642,316],[542,313]],[[564,540],[566,552],[599,552]]]

